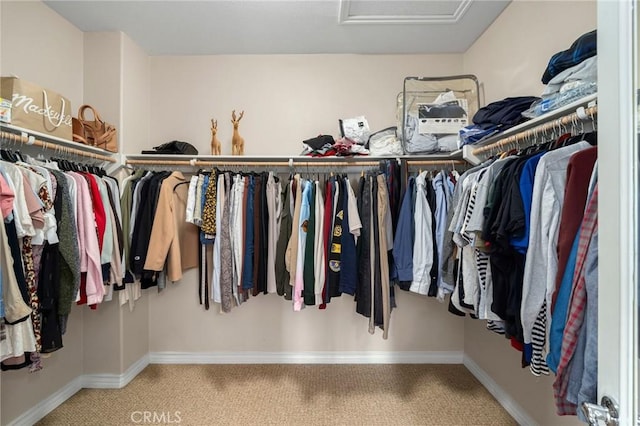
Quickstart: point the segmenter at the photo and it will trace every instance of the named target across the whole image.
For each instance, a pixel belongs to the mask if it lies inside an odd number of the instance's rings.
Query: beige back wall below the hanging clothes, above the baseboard
[[[294,312],[277,295],[251,298],[229,314],[198,305],[195,271],[162,293],[149,293],[150,351],[462,351],[463,321],[433,299],[398,292],[389,339],[368,333],[353,297],[331,299],[326,310]]]

